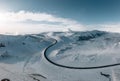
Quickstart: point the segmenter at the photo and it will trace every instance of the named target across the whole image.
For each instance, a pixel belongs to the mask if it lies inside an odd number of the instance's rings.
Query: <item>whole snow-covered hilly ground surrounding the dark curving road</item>
[[[96,67],[120,62],[120,34],[104,31],[46,32],[0,35],[0,80],[10,81],[120,81],[120,66]]]

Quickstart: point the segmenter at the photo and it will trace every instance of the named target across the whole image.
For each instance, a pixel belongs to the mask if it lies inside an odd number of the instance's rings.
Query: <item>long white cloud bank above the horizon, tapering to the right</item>
[[[2,16],[0,32],[39,33],[46,31],[84,30],[84,26],[75,20],[57,17],[47,13],[6,12]]]

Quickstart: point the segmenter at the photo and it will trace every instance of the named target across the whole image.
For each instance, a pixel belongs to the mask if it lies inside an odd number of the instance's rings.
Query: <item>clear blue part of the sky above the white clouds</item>
[[[120,0],[0,0],[7,10],[45,12],[83,24],[120,21]]]

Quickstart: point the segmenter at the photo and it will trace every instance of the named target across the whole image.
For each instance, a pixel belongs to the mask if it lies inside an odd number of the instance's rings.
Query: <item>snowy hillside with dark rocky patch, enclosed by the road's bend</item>
[[[106,65],[114,63],[113,56],[119,56],[120,35],[92,31],[77,32],[60,39],[61,41],[50,48],[54,50],[49,54],[51,60],[60,64],[77,67]]]

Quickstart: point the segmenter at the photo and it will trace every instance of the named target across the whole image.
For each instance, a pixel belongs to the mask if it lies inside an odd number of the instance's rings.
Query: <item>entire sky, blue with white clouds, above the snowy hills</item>
[[[0,33],[120,32],[120,0],[0,0]]]

